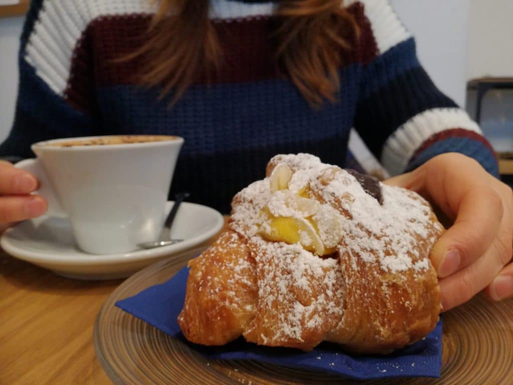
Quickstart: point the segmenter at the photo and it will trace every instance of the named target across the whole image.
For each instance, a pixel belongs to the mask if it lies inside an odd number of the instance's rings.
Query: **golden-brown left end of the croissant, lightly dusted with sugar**
[[[243,238],[228,230],[188,267],[178,317],[185,338],[224,345],[241,336],[255,316],[258,296],[254,261]]]

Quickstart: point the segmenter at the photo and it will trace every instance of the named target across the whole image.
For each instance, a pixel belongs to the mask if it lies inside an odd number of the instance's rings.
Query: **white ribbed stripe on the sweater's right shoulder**
[[[344,4],[349,6],[357,2],[364,6],[365,16],[370,22],[379,54],[411,37],[388,0],[349,0],[345,1]]]

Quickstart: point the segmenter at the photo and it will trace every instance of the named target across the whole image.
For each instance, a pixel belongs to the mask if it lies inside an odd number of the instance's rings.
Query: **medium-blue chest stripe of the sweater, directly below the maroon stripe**
[[[105,130],[173,133],[186,139],[184,153],[277,148],[345,136],[352,126],[360,71],[358,65],[342,70],[340,101],[320,110],[310,108],[297,88],[282,79],[196,85],[172,108],[169,100],[156,101],[156,90],[132,85],[104,87],[97,101]]]

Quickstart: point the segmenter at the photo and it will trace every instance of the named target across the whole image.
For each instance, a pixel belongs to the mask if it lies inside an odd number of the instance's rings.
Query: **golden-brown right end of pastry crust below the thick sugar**
[[[326,336],[327,341],[341,343],[353,352],[389,353],[435,328],[441,305],[433,266],[422,273],[408,269],[392,274],[356,257],[354,266],[351,255],[340,253],[348,287],[346,305],[341,322]]]

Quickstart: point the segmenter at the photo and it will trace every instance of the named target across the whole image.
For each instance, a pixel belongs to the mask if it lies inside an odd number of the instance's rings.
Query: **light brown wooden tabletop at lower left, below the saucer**
[[[0,254],[0,384],[111,384],[93,325],[123,280],[77,281]]]

